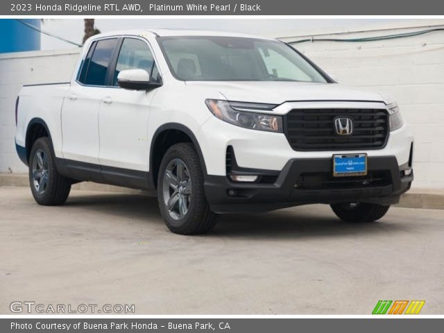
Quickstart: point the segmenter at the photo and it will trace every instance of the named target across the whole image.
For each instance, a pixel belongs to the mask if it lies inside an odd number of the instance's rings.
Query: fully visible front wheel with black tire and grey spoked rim
[[[167,227],[176,234],[205,234],[216,224],[216,214],[203,189],[203,171],[192,144],[171,146],[160,163],[157,200]]]

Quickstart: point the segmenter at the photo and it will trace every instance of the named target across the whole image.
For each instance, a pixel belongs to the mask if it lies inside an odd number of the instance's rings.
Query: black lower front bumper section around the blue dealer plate
[[[405,169],[411,169],[409,163],[398,166],[395,156],[368,157],[368,176],[332,178],[331,158],[293,159],[275,174],[273,183],[239,183],[226,176],[206,176],[205,194],[212,210],[219,213],[268,211],[311,203],[391,205],[410,189],[413,171],[405,176]],[[248,171],[254,173],[254,169]]]

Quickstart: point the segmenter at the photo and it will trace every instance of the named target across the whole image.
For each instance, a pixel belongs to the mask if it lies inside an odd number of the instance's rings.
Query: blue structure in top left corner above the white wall
[[[22,19],[40,29],[40,19]],[[40,50],[40,33],[16,19],[0,19],[0,53]]]

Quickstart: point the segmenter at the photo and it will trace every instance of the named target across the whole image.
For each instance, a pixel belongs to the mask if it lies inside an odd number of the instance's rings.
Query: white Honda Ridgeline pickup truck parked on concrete
[[[62,204],[81,181],[155,189],[180,234],[208,232],[217,214],[311,203],[375,221],[413,180],[393,101],[269,38],[96,35],[71,82],[24,86],[15,112],[37,203]]]

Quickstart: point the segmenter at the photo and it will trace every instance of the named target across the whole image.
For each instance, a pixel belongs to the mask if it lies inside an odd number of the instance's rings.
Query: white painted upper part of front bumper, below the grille
[[[250,130],[225,123],[216,117],[210,118],[196,133],[203,153],[207,173],[214,176],[225,176],[225,152],[228,146],[234,148],[239,167],[282,171],[291,160],[315,160],[331,158],[333,154],[367,153],[368,157],[395,156],[398,165],[409,160],[413,135],[409,127],[391,132],[388,142],[382,149],[356,151],[296,151],[291,148],[283,133],[271,133]]]

